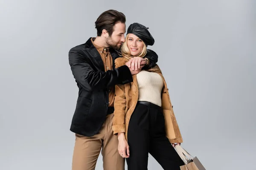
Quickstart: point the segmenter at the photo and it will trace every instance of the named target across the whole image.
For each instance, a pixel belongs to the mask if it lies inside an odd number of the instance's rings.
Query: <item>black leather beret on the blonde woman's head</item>
[[[139,23],[133,23],[128,27],[127,34],[130,33],[136,35],[141,40],[143,40],[146,46],[154,44],[154,38],[148,31],[148,28]]]

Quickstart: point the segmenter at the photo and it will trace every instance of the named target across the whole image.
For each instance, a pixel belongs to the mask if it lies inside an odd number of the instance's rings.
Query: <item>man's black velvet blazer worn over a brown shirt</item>
[[[132,82],[130,69],[123,65],[115,68],[114,60],[119,54],[110,48],[113,69],[105,72],[99,52],[91,42],[73,47],[69,51],[69,64],[79,88],[76,110],[70,130],[83,136],[93,136],[99,132],[108,111],[108,90],[116,84]],[[148,52],[150,66],[157,62],[157,54]]]

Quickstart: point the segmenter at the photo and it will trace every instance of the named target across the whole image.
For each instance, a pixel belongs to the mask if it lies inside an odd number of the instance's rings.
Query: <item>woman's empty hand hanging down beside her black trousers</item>
[[[125,133],[118,133],[118,152],[123,158],[129,158],[130,150],[128,142],[125,139]]]

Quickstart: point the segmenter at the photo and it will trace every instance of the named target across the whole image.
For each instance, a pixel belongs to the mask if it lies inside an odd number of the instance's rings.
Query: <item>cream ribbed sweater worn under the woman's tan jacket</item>
[[[139,88],[138,101],[151,102],[155,105],[162,106],[161,94],[163,79],[159,74],[144,70],[140,71],[137,74],[137,82]]]

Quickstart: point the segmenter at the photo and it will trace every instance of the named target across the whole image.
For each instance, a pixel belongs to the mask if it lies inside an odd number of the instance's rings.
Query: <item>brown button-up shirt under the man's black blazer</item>
[[[111,54],[109,52],[109,48],[104,48],[102,46],[99,46],[99,45],[95,44],[93,42],[94,40],[95,40],[95,38],[91,39],[94,47],[97,49],[97,51],[100,54],[100,57],[102,58],[105,71],[112,70],[112,68],[113,68],[113,59],[112,59]],[[113,107],[114,106],[114,98],[115,98],[115,88],[110,87],[108,89],[108,93],[109,93],[108,94],[108,101],[109,101],[108,106]]]

